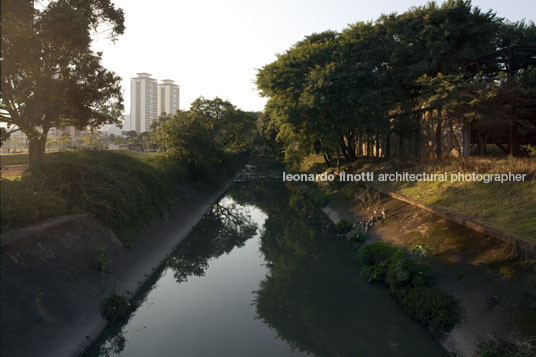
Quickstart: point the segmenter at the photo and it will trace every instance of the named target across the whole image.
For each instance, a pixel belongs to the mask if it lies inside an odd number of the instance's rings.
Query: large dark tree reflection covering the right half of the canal
[[[254,183],[233,193],[268,214],[261,251],[270,273],[256,291],[258,316],[316,356],[446,355],[382,287],[361,280],[348,245],[300,187],[281,186]]]

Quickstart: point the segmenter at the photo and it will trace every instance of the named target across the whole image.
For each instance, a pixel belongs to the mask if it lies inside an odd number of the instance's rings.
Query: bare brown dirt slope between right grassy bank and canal
[[[357,196],[356,196],[357,197]],[[481,336],[534,335],[534,272],[521,272],[498,240],[387,196],[368,202],[337,199],[324,212],[337,222],[385,210],[367,242],[385,241],[424,252],[436,284],[460,300],[462,323],[441,344],[456,356],[472,356]]]

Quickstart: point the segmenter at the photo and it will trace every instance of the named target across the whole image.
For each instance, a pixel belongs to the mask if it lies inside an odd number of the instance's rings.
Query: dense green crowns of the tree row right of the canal
[[[490,67],[483,81],[475,59],[515,44],[536,44],[536,26],[463,0],[313,34],[258,72],[257,86],[269,98],[259,127],[287,160],[314,152],[328,163],[334,152],[354,160],[363,143],[388,154],[391,135],[415,135],[426,118],[438,135],[460,121],[482,132],[504,130],[513,98],[523,108],[534,102],[536,72],[507,78],[504,68]],[[440,140],[436,153],[442,156]]]

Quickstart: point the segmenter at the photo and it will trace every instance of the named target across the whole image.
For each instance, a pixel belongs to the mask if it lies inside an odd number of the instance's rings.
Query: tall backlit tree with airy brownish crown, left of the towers
[[[91,49],[96,33],[124,32],[124,14],[110,0],[2,1],[4,141],[14,130],[28,136],[30,166],[44,156],[52,127],[119,123],[120,78]]]

